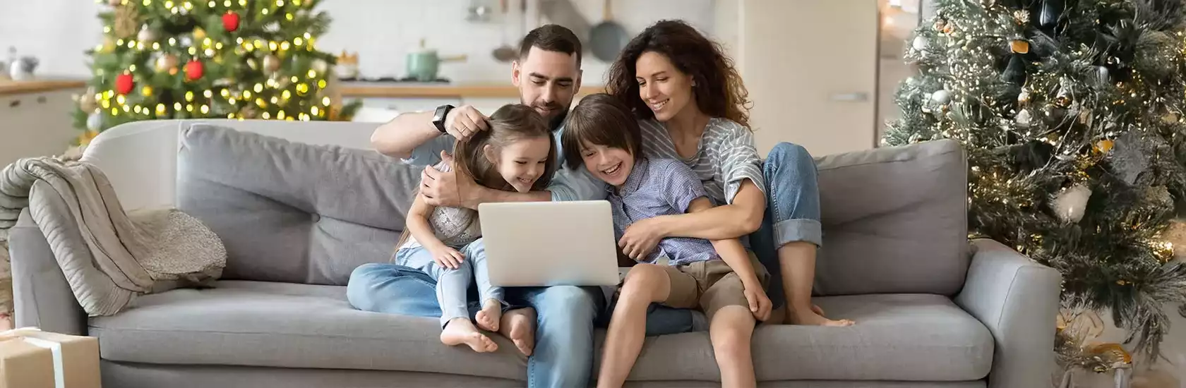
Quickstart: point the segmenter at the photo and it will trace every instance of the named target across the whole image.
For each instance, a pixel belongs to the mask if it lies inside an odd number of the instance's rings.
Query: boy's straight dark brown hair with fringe
[[[638,119],[621,100],[598,93],[581,98],[568,114],[560,142],[565,150],[565,164],[569,168],[580,167],[584,163],[582,142],[626,150],[637,160],[642,158],[643,131],[638,128]]]

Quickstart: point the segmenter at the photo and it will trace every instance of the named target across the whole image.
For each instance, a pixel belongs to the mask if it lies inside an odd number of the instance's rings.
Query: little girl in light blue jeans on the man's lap
[[[556,171],[556,150],[548,123],[534,109],[509,104],[490,116],[490,129],[458,141],[453,165],[442,161],[440,171],[457,168],[478,184],[504,191],[544,190]],[[409,238],[410,235],[410,238]],[[490,285],[485,250],[482,246],[478,212],[465,208],[434,208],[421,196],[412,203],[408,225],[395,253],[397,265],[417,268],[436,280],[441,307],[441,342],[466,344],[478,352],[498,346],[478,331],[498,331],[506,305],[500,287]],[[470,320],[466,291],[477,280],[482,310],[477,327]],[[531,349],[516,345],[527,355]]]

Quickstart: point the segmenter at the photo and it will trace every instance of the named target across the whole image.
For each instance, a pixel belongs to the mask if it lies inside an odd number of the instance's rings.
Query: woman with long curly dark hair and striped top
[[[635,223],[621,238],[623,252],[645,255],[663,237],[752,234],[751,249],[772,275],[773,305],[788,304],[786,323],[853,324],[824,318],[811,304],[822,243],[815,160],[803,147],[782,142],[763,165],[748,128],[747,91],[718,44],[683,21],[656,23],[611,65],[606,88],[638,116],[643,153],[682,160],[718,205]]]

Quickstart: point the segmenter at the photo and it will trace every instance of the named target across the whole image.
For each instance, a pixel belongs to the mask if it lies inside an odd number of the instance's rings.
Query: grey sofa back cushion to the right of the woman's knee
[[[968,174],[959,144],[930,141],[816,158],[820,294],[933,293],[963,286]]]

